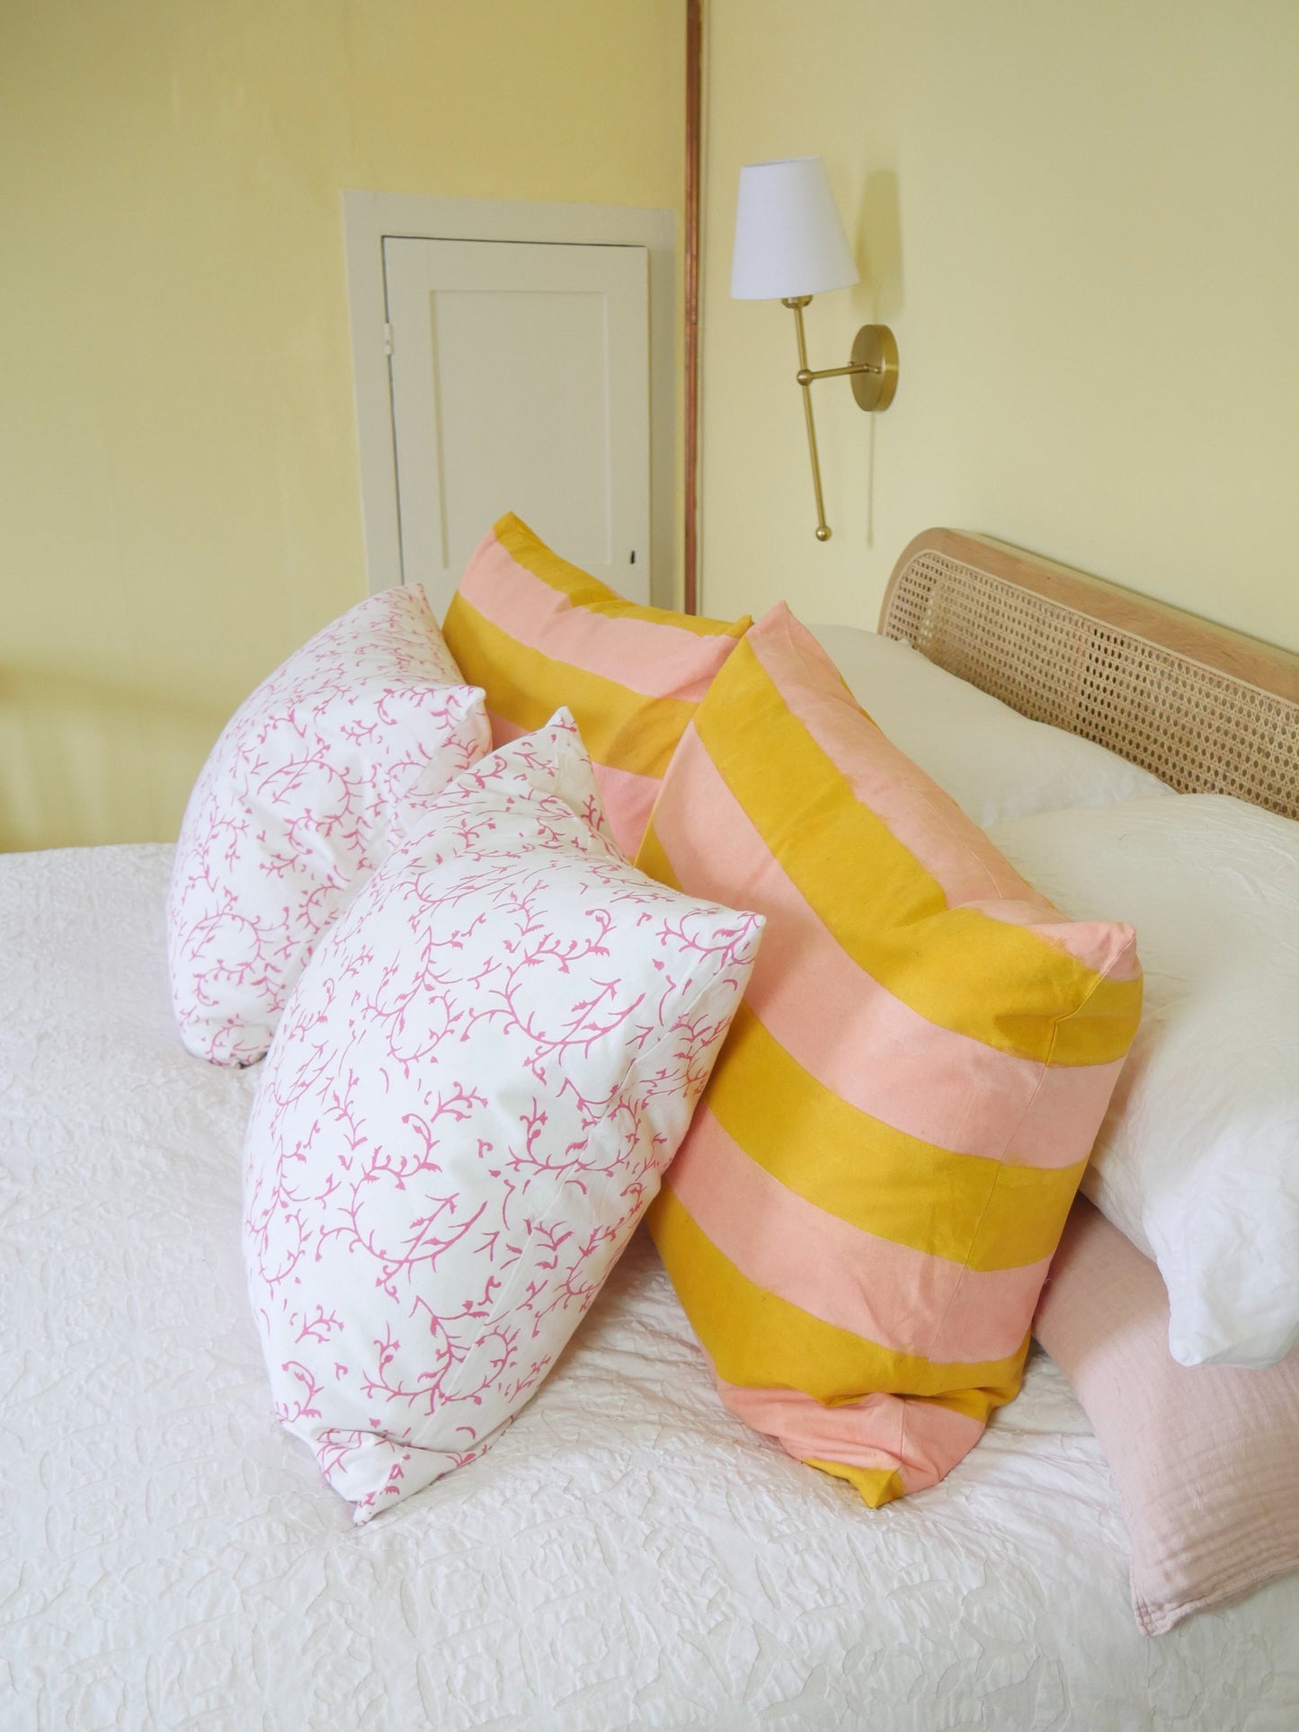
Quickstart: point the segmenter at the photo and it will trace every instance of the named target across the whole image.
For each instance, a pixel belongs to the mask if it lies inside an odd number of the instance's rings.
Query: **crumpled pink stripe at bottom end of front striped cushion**
[[[921,1396],[871,1394],[831,1408],[798,1389],[741,1389],[724,1377],[717,1377],[717,1393],[738,1419],[776,1438],[797,1462],[897,1470],[906,1493],[949,1474],[984,1432],[982,1420]]]

